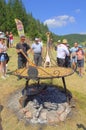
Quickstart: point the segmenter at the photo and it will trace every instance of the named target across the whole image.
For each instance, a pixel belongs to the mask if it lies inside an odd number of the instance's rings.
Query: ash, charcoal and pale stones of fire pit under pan
[[[67,97],[58,87],[48,85],[39,94],[28,97],[25,107],[20,107],[19,99],[22,90],[12,94],[8,108],[15,112],[19,120],[27,124],[52,124],[63,122],[72,115],[72,107]]]

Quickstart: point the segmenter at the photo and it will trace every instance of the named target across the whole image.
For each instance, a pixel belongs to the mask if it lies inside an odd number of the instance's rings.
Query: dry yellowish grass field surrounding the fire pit
[[[15,40],[15,43],[18,39]],[[56,125],[28,125],[19,121],[15,114],[7,108],[8,97],[25,85],[25,80],[17,81],[17,77],[11,72],[17,69],[17,54],[15,46],[8,50],[10,61],[8,63],[9,77],[6,80],[0,78],[0,104],[3,110],[0,113],[0,130],[86,130],[86,72],[80,78],[77,73],[65,78],[67,89],[72,93],[75,101],[73,115],[65,122]],[[86,67],[86,66],[85,66]],[[47,82],[47,81],[45,81]],[[63,86],[61,79],[54,79],[54,84]]]

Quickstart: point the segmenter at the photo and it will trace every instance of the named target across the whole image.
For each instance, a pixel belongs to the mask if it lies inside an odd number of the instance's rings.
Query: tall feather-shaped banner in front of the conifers
[[[24,36],[24,27],[22,22],[19,19],[15,19],[17,30],[18,30],[18,35],[19,36]]]

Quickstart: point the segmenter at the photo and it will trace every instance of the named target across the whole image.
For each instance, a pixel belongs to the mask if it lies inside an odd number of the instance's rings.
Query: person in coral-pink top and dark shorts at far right
[[[78,51],[76,52],[77,55],[77,66],[79,71],[79,76],[82,77],[84,73],[84,50],[81,45],[78,46]]]

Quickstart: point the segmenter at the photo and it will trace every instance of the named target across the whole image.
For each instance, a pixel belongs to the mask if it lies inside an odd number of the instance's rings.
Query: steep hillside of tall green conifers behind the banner
[[[0,0],[0,31],[12,31],[17,34],[15,18],[22,21],[26,35],[32,39],[35,36],[45,40],[45,33],[48,27],[39,20],[33,18],[31,13],[27,13],[22,0]]]

